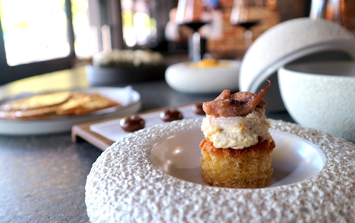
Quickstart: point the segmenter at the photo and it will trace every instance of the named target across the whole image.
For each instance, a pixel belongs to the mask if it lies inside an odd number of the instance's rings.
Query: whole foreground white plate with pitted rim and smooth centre
[[[90,221],[354,222],[355,145],[270,121],[275,172],[259,189],[212,187],[197,179],[199,119],[127,135],[98,157],[87,177]]]

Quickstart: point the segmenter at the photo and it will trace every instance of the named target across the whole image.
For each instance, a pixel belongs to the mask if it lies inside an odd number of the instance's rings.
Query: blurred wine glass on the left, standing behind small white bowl
[[[213,10],[211,0],[179,0],[176,23],[185,25],[193,31],[191,37],[192,61],[201,61],[201,35],[197,32],[203,25],[211,22]]]

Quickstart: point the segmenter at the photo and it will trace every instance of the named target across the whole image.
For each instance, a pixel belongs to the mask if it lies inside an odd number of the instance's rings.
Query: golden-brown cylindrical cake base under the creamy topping
[[[271,154],[275,147],[271,139],[241,150],[219,149],[206,139],[200,147],[202,179],[211,186],[261,188],[271,179]]]

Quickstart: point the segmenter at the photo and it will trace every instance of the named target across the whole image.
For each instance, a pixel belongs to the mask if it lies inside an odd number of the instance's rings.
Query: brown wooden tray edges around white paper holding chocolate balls
[[[188,106],[188,105],[191,105],[191,108],[192,108],[192,106],[194,104],[196,104],[196,103],[180,105],[180,106],[176,106],[175,108],[179,109],[179,107]],[[165,109],[167,109],[167,108],[159,108],[159,109],[155,109],[155,110],[151,110],[151,111],[147,111],[147,112],[136,113],[136,115],[143,115],[143,114],[147,114],[147,113],[163,111]],[[114,141],[109,140],[100,134],[92,132],[90,130],[90,126],[93,124],[101,123],[101,122],[107,122],[110,120],[121,119],[123,117],[124,116],[104,119],[101,121],[77,124],[77,125],[73,126],[71,129],[72,141],[73,141],[73,143],[78,143],[80,141],[87,141],[88,143],[91,143],[92,145],[98,147],[100,150],[105,151],[109,146],[111,146],[114,143]],[[118,126],[117,128],[120,128],[120,126]]]

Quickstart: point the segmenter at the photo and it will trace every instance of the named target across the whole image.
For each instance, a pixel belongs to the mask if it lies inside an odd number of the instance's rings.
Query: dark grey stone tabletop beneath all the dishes
[[[0,96],[16,95],[23,89],[87,87],[82,72],[56,72],[3,85]],[[178,93],[164,80],[131,85],[141,94],[141,111],[218,96]],[[292,122],[286,112],[267,113],[267,117]],[[89,222],[84,201],[86,177],[101,153],[85,141],[72,143],[70,133],[0,136],[0,222]]]

